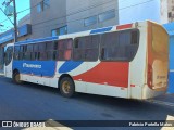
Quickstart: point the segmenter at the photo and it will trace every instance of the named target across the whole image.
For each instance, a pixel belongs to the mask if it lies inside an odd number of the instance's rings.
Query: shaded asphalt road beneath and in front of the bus
[[[167,116],[174,116],[174,107],[82,93],[66,99],[54,88],[33,83],[14,84],[11,79],[0,77],[0,120],[103,120],[103,125],[107,120],[166,120]],[[135,130],[133,127],[124,129]],[[145,127],[141,129],[149,130]]]

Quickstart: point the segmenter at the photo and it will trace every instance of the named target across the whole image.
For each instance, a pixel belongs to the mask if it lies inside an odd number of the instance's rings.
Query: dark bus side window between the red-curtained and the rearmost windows
[[[99,36],[75,38],[73,58],[75,61],[97,61]]]

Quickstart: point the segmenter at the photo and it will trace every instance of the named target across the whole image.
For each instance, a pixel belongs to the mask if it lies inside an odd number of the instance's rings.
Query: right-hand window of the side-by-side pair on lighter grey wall
[[[107,11],[99,14],[99,22],[104,22],[115,17],[115,10]]]

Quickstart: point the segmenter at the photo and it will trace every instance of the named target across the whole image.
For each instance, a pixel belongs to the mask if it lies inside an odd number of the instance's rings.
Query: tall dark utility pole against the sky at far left
[[[16,5],[15,0],[13,0],[13,6],[14,6],[14,42],[17,42],[17,14],[16,14]]]

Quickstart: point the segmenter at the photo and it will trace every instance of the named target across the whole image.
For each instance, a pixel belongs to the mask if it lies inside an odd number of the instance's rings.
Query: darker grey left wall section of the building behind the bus
[[[66,23],[66,0],[50,0],[49,9],[38,13],[37,4],[42,0],[30,0],[32,38],[50,37],[51,30]]]

